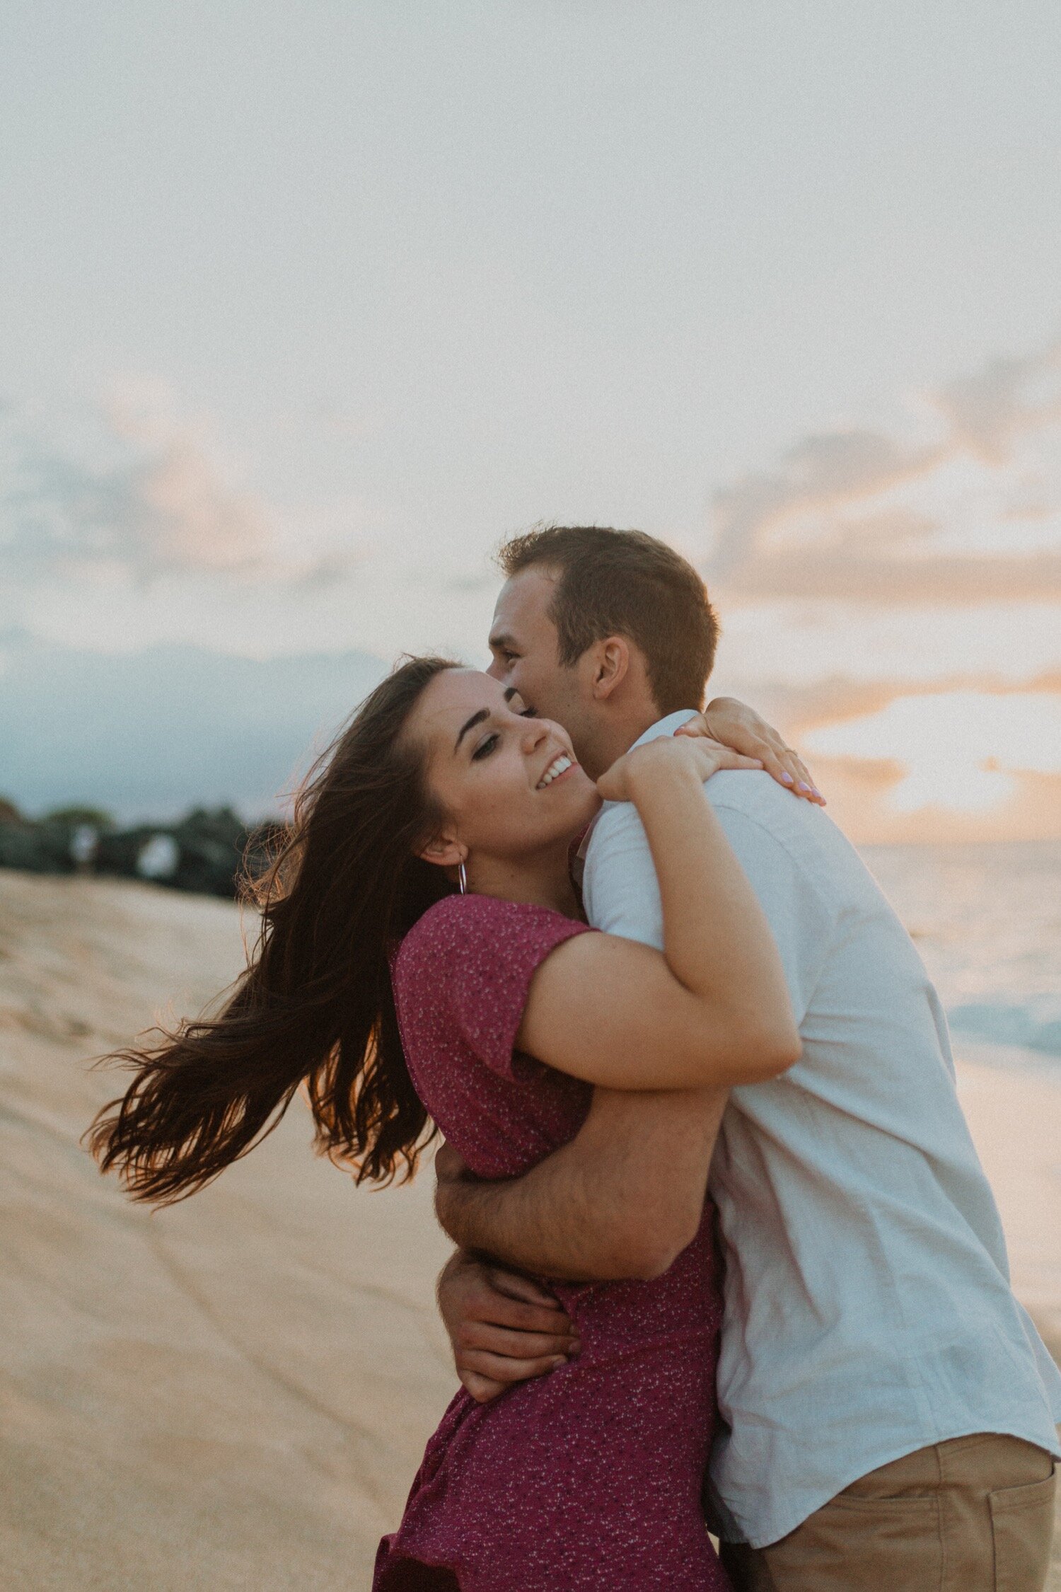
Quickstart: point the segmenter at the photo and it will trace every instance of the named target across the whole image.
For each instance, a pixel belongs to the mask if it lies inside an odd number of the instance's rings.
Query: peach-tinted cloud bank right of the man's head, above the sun
[[[929,398],[942,433],[808,436],[714,500],[722,600],[1061,599],[1061,344]]]

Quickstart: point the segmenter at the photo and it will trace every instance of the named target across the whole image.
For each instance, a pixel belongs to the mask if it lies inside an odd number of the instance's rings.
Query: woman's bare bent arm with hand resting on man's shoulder
[[[799,1059],[781,958],[703,782],[732,753],[659,739],[600,780],[633,801],[663,904],[663,955],[612,935],[577,935],[538,968],[520,1049],[609,1089],[757,1083]],[[740,766],[740,759],[738,759]]]

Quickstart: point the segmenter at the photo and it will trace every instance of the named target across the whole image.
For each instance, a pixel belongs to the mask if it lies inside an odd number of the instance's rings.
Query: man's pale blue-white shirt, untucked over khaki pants
[[[760,1547],[948,1438],[1009,1433],[1061,1455],[1061,1375],[1010,1290],[910,936],[821,809],[767,774],[716,774],[706,793],[765,909],[803,1040],[781,1078],[733,1091],[709,1184],[727,1272],[711,1484],[725,1535]],[[662,949],[633,806],[604,806],[584,892],[597,928]]]

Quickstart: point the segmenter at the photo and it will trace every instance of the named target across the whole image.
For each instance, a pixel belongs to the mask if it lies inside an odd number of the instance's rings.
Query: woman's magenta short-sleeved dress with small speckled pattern
[[[581,1127],[590,1087],[514,1052],[534,968],[585,925],[449,896],[393,963],[428,1111],[472,1172],[511,1178]],[[711,1213],[654,1282],[550,1285],[582,1353],[490,1404],[461,1391],[428,1442],[374,1592],[727,1589],[700,1512],[716,1420]]]

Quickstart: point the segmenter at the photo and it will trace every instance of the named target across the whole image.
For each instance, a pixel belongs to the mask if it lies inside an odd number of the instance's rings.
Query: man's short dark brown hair
[[[593,642],[625,635],[644,654],[660,713],[702,707],[719,624],[692,564],[665,541],[608,525],[546,525],[509,538],[498,564],[509,578],[531,565],[558,572],[549,618],[565,667]]]

